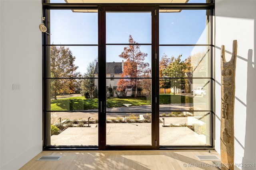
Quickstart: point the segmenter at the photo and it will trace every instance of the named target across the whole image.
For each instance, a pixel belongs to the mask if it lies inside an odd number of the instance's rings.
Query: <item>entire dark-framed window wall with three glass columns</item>
[[[186,6],[43,5],[46,149],[212,147],[213,7]]]

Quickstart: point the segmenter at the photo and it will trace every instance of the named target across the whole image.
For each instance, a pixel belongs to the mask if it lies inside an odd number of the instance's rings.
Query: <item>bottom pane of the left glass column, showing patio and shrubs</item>
[[[98,111],[51,112],[51,145],[98,146]]]

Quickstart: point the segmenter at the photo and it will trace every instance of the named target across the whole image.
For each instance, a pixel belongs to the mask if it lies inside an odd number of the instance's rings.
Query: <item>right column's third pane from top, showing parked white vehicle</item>
[[[160,111],[210,110],[210,79],[160,78]]]

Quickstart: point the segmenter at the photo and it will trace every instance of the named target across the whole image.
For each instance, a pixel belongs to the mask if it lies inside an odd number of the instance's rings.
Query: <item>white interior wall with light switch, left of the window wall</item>
[[[42,150],[41,3],[0,0],[1,170],[17,170]]]

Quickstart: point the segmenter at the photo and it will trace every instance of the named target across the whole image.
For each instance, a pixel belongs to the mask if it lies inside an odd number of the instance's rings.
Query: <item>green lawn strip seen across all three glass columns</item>
[[[131,106],[150,105],[150,100],[146,98],[108,98],[107,107],[122,107],[123,104]],[[160,94],[159,104],[180,104],[191,103],[193,98],[189,96],[180,96],[173,94]],[[51,100],[51,110],[88,110],[97,109],[98,99],[86,99],[83,96]]]

